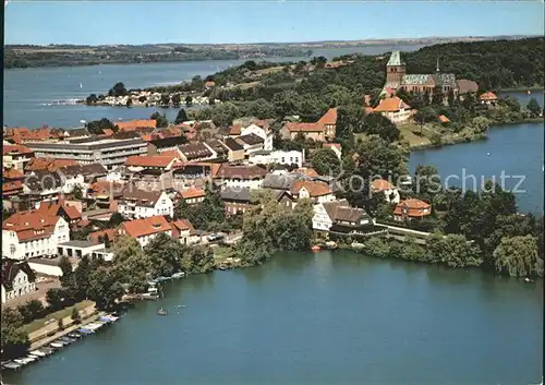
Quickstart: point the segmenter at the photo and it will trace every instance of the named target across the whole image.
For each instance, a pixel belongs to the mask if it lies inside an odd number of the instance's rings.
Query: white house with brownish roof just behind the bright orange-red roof
[[[118,212],[129,219],[174,215],[174,204],[165,191],[144,191],[129,184],[118,201]]]

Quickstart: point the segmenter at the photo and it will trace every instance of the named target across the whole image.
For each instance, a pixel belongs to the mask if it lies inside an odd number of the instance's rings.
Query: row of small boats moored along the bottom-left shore
[[[11,361],[2,362],[2,369],[11,369],[11,370],[17,370],[21,369],[24,365],[27,365],[32,362],[38,361],[43,358],[46,358],[48,356],[51,356],[55,353],[57,350],[63,349],[69,345],[74,344],[78,339],[81,339],[84,336],[95,334],[100,327],[110,324],[112,322],[116,322],[119,320],[119,315],[117,313],[112,314],[107,314],[100,316],[96,322],[92,322],[89,324],[86,324],[82,327],[80,327],[76,332],[69,333],[68,335],[60,337],[56,339],[55,341],[50,342],[48,346],[44,346],[39,349],[35,349],[28,352],[27,356],[21,357]]]

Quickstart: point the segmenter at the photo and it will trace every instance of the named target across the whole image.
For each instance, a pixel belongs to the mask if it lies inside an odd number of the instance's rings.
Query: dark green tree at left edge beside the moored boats
[[[31,346],[23,328],[23,317],[13,308],[2,309],[0,336],[2,359],[23,356]]]

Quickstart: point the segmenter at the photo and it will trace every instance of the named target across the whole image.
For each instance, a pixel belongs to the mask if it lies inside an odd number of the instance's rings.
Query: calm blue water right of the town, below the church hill
[[[413,152],[411,173],[419,164],[433,165],[444,185],[447,182],[448,185],[465,185],[467,190],[475,190],[486,179],[495,178],[516,194],[519,212],[543,215],[543,123],[504,125],[491,129],[484,141]],[[502,172],[506,176],[504,184]],[[475,182],[471,176],[475,177]],[[519,181],[521,184],[513,190]]]

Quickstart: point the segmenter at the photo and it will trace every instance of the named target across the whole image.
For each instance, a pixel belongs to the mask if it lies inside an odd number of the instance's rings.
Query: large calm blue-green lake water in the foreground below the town
[[[538,383],[542,284],[344,251],[283,254],[171,282],[164,300],[4,381]]]

